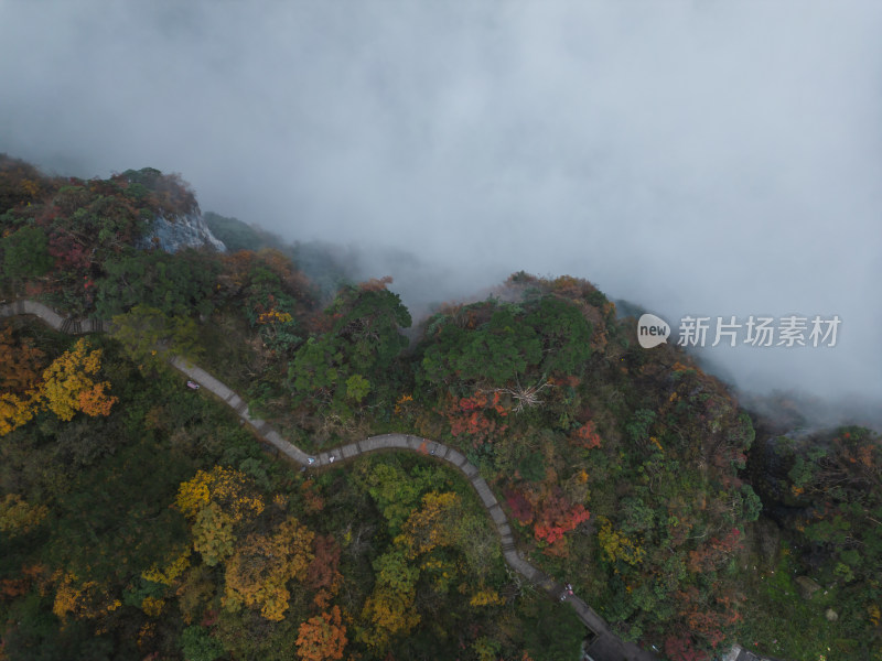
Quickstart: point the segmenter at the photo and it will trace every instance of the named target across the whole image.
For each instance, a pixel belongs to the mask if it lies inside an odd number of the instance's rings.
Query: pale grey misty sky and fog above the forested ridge
[[[835,348],[714,359],[879,401],[880,34],[876,0],[0,0],[0,151],[418,253],[426,300],[524,269],[674,326],[838,314]]]

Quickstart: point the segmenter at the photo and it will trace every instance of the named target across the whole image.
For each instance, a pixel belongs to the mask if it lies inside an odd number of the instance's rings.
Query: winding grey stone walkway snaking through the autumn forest
[[[71,335],[101,333],[110,328],[110,323],[106,321],[63,317],[54,310],[35,301],[25,300],[0,305],[0,318],[18,315],[34,315],[56,330]],[[545,590],[552,598],[559,598],[563,593],[563,585],[534,567],[517,550],[515,538],[512,533],[512,527],[508,524],[505,511],[503,511],[502,506],[493,495],[490,485],[487,485],[486,480],[478,474],[477,467],[471,464],[461,452],[438,441],[431,441],[420,436],[412,436],[409,434],[383,434],[380,436],[369,436],[362,441],[356,441],[355,443],[349,443],[321,452],[315,456],[310,456],[301,448],[282,438],[281,434],[267,421],[252,418],[248,413],[247,402],[211,373],[180,356],[173,358],[171,364],[187,378],[197,381],[203,388],[209,390],[223,400],[224,403],[236,412],[245,424],[254,430],[255,434],[263,443],[270,445],[300,466],[321,468],[331,466],[335,462],[352,459],[359,455],[381,449],[417,452],[451,464],[460,473],[465,475],[477,492],[478,498],[481,498],[481,502],[487,510],[487,513],[496,527],[496,532],[499,534],[503,557],[508,566],[524,576],[530,585]],[[582,620],[593,636],[593,640],[587,646],[588,659],[592,661],[657,660],[657,657],[652,652],[642,650],[634,643],[625,642],[617,638],[610,630],[604,619],[579,597],[570,596],[566,602],[573,608],[579,619]]]

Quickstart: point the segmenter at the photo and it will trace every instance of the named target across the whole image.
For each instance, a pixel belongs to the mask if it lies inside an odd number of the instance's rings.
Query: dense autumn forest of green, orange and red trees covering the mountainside
[[[523,556],[674,661],[733,642],[882,659],[882,446],[783,429],[584,280],[518,272],[411,318],[388,280],[206,214],[168,253],[175,175],[0,158],[0,299],[110,322],[0,325],[0,659],[580,658],[572,609],[504,562],[431,456],[303,469],[191,390],[182,355],[308,452],[386,432],[458,448]]]

